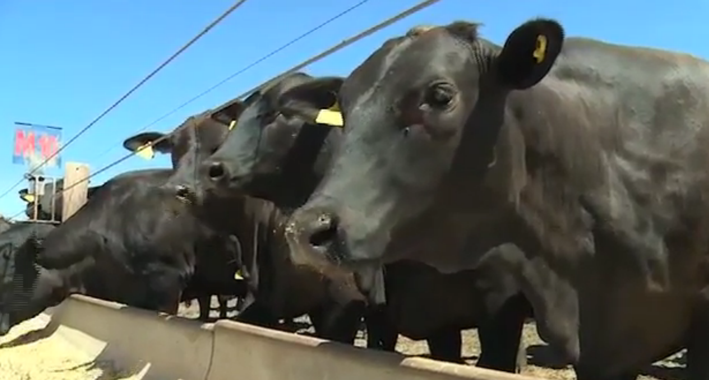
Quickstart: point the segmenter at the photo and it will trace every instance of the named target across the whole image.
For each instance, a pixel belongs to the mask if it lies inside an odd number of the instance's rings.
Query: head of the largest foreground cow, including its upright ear
[[[442,189],[454,188],[449,179],[465,177],[467,186],[447,196],[476,191],[494,167],[506,97],[545,77],[563,39],[559,23],[535,20],[498,47],[478,38],[476,25],[458,22],[380,47],[342,84],[345,136],[318,190],[289,222],[294,260],[373,275],[393,259],[384,257],[392,236],[420,223]]]

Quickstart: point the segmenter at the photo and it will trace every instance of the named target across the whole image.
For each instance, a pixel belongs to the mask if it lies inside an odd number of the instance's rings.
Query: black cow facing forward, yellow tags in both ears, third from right
[[[250,102],[247,99],[245,105]],[[196,215],[208,225],[238,237],[246,263],[245,276],[250,284],[250,296],[239,320],[276,327],[276,318],[290,319],[308,313],[320,337],[351,343],[365,307],[364,296],[357,291],[351,274],[323,277],[313,271],[296,271],[284,265],[284,259],[289,257],[281,228],[285,216],[270,202],[241,194],[201,202],[202,197],[195,194],[196,163],[222,145],[229,126],[235,125],[231,121],[240,117],[243,106],[239,101],[231,101],[216,111],[206,111],[179,127],[170,140],[156,145],[159,152],[173,152],[176,171],[166,186],[177,188],[181,199],[194,202]],[[261,114],[259,117],[271,116]],[[159,137],[158,133],[144,133],[129,138],[124,146],[135,149]]]

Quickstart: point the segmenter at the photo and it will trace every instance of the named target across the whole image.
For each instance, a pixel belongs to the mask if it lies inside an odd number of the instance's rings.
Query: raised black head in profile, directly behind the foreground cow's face
[[[206,190],[246,193],[279,206],[303,204],[340,140],[342,81],[296,73],[251,94],[236,128],[201,164]]]

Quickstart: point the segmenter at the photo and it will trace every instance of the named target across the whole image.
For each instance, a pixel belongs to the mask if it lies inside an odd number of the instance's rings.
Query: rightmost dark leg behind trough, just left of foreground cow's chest
[[[530,313],[526,298],[514,296],[479,326],[481,354],[478,367],[512,373],[518,371],[518,367],[524,367],[527,357],[519,353],[525,318]],[[518,366],[518,360],[522,358],[524,363]]]

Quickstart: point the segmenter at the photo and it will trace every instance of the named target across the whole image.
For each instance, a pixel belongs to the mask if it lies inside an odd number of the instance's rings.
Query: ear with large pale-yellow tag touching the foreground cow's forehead
[[[343,121],[337,93],[343,82],[342,77],[323,77],[294,86],[279,96],[279,111],[303,118],[308,123],[341,127]]]

